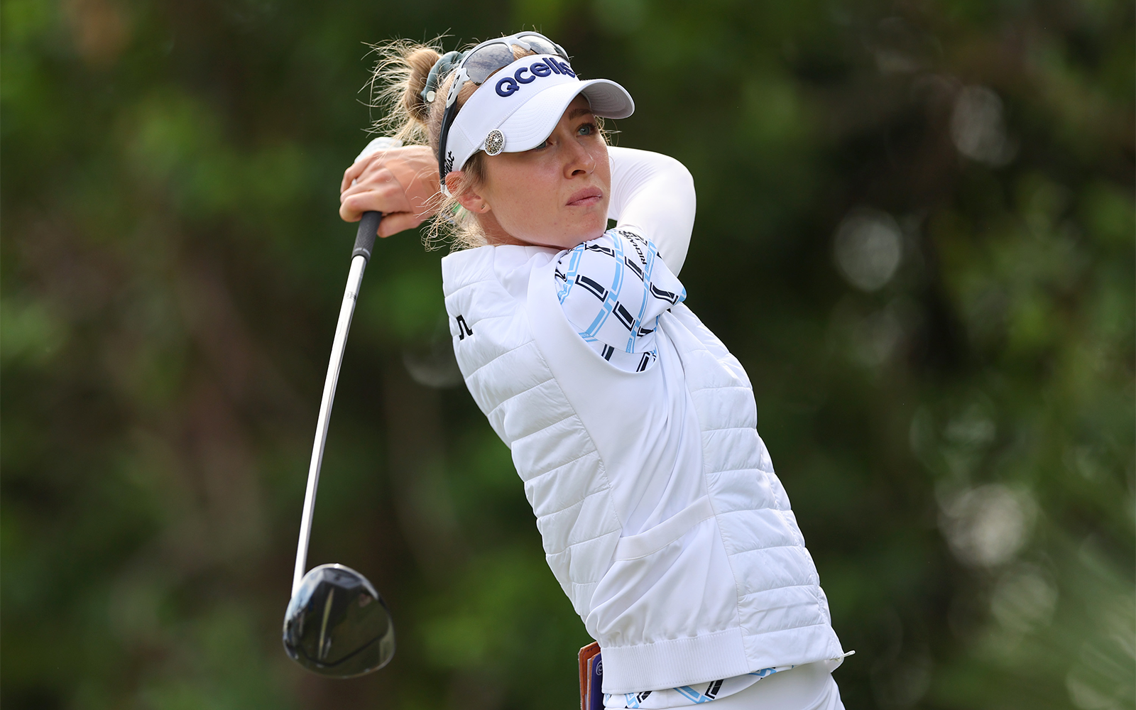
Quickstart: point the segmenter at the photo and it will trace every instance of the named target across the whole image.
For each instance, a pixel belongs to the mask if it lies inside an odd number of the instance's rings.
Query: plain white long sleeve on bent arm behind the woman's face
[[[694,228],[694,178],[690,170],[674,158],[633,148],[612,145],[608,156],[608,218],[653,242],[667,267],[677,275]]]

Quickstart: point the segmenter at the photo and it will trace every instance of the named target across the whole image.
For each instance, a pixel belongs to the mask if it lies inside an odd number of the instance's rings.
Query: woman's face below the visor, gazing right
[[[571,249],[603,234],[611,167],[587,99],[576,97],[541,145],[486,157],[481,194],[498,224],[529,244]]]

